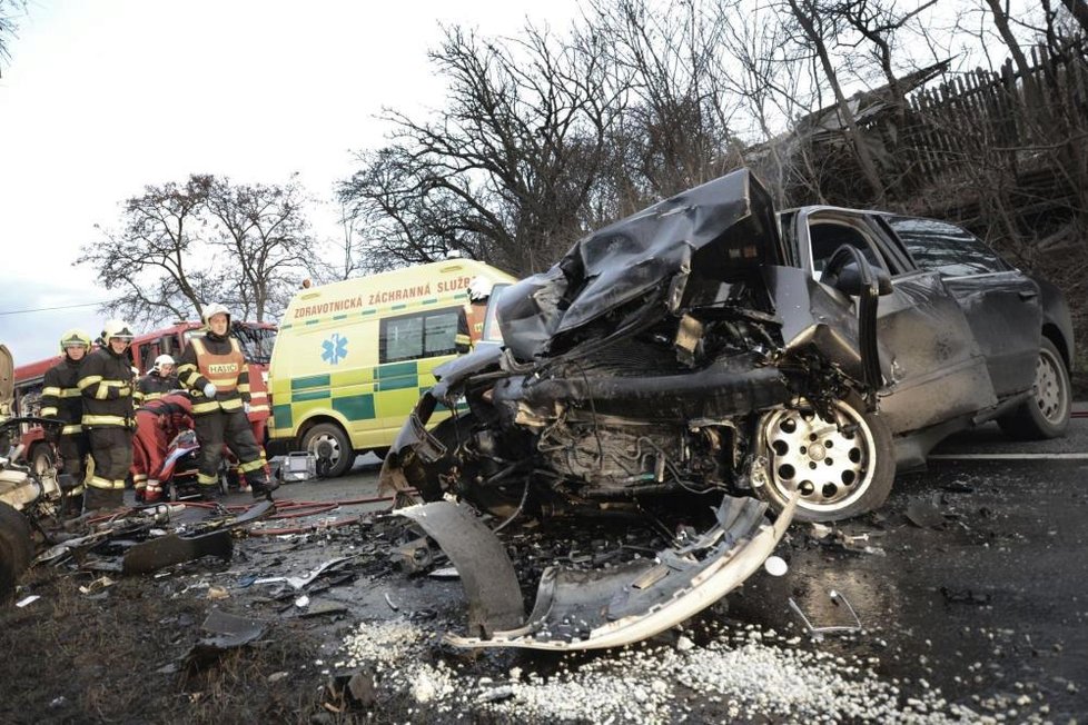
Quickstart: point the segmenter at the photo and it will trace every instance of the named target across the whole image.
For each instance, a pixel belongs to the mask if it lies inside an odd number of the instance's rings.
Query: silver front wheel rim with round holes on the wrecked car
[[[780,497],[788,498],[797,487],[798,506],[834,512],[864,493],[872,478],[872,431],[842,403],[835,403],[834,418],[829,423],[807,406],[775,410],[765,418],[771,485]]]

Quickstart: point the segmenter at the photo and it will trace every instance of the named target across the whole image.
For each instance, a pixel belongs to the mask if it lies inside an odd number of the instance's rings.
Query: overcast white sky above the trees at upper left
[[[109,291],[72,261],[145,185],[191,172],[332,198],[383,106],[442,105],[439,23],[563,28],[573,0],[29,0],[0,77],[0,342],[16,364],[91,336]],[[329,216],[329,218],[332,218]],[[320,219],[316,220],[320,224]],[[320,231],[320,228],[318,229]]]

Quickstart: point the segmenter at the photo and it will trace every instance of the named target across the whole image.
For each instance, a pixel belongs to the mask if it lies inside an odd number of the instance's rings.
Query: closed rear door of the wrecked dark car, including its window
[[[884,216],[921,269],[940,275],[967,317],[998,398],[1035,381],[1042,334],[1039,286],[969,231],[944,221]]]

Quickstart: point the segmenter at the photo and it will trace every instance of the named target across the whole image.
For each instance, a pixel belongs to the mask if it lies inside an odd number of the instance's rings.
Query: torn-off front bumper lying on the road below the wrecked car
[[[508,629],[474,622],[469,632],[478,636],[446,634],[445,640],[457,647],[522,647],[530,649],[580,650],[616,647],[641,642],[664,632],[718,602],[756,572],[782,538],[793,518],[797,497],[772,523],[768,506],[750,497],[725,496],[718,509],[718,522],[693,542],[664,549],[653,559],[600,570],[575,570],[560,567],[545,569],[537,588],[536,604],[528,619]],[[478,617],[491,602],[477,594],[482,582],[501,586],[485,558],[475,548],[479,536],[487,535],[488,556],[502,553],[505,566],[510,559],[497,537],[471,518],[474,530],[435,526],[428,504],[406,509],[457,566],[465,582],[469,609]],[[459,507],[454,507],[455,509]],[[467,517],[467,514],[463,514]],[[471,555],[465,556],[468,552]],[[503,586],[510,600],[520,602],[513,567]],[[494,592],[491,593],[494,596]],[[494,599],[492,599],[494,600]],[[502,613],[513,617],[513,607]]]

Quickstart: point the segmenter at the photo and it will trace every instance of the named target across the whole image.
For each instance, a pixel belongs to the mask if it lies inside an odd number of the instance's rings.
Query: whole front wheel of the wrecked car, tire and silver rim
[[[804,399],[760,419],[756,450],[766,468],[756,491],[782,510],[800,488],[794,520],[860,516],[879,508],[891,493],[896,450],[888,425],[879,414],[867,413],[858,396],[833,405],[835,423],[823,420]]]

